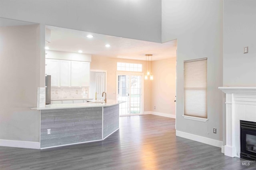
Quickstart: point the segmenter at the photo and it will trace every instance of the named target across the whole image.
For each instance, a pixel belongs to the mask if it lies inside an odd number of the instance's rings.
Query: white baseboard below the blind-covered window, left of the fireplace
[[[177,131],[177,130],[176,130],[176,136],[184,137],[186,139],[190,139],[190,140],[193,140],[193,141],[198,141],[198,142],[205,143],[205,144],[212,145],[212,146],[219,147],[219,148],[221,148],[223,146],[222,141],[217,141],[215,139],[210,139],[210,138],[207,138],[207,137],[193,135],[193,134],[190,134],[190,133],[181,132],[181,131]]]

